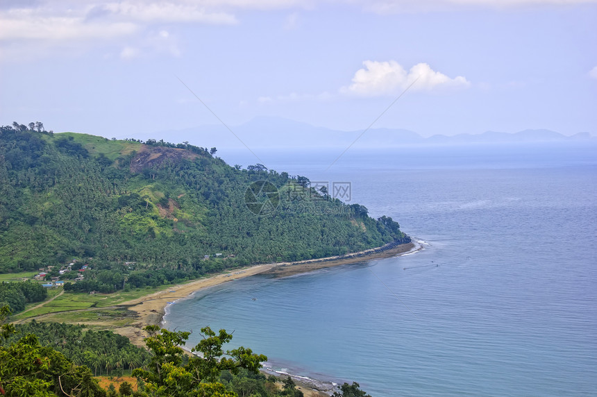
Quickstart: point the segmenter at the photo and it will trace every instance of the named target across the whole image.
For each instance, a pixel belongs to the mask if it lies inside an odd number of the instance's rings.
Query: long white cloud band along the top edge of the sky
[[[376,12],[450,10],[460,6],[507,8],[575,5],[597,0],[326,0],[335,6],[361,3]],[[314,0],[39,0],[0,6],[0,40],[111,39],[130,35],[149,24],[236,24],[242,10],[291,10],[286,28],[299,22],[297,10],[312,9]]]

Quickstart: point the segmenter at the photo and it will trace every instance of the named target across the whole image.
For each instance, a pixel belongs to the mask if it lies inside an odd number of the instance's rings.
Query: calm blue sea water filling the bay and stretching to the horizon
[[[597,151],[589,149],[428,162],[365,153],[326,173],[319,156],[272,160],[312,180],[350,181],[352,202],[398,220],[425,248],[235,280],[171,305],[165,325],[193,330],[191,346],[203,326],[234,330],[234,346],[264,353],[276,369],[355,380],[372,396],[594,396]]]

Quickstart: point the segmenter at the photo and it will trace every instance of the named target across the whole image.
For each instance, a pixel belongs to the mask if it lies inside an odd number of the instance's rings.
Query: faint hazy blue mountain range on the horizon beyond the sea
[[[593,137],[589,133],[566,136],[552,130],[544,129],[523,130],[519,133],[487,131],[480,134],[433,135],[432,137],[421,137],[421,135],[414,131],[393,128],[371,128],[363,133],[363,130],[333,130],[279,117],[255,117],[255,119],[240,126],[231,126],[230,130],[226,126],[219,124],[197,126],[183,130],[165,130],[150,134],[139,133],[133,137],[142,140],[167,137],[169,142],[178,143],[188,141],[191,144],[208,144],[209,146],[217,146],[222,149],[244,148],[245,144],[250,148],[337,148],[347,147],[355,140],[358,142],[358,147],[361,148],[387,148],[392,146],[429,144],[462,145],[570,142],[579,140],[597,142],[597,137]]]

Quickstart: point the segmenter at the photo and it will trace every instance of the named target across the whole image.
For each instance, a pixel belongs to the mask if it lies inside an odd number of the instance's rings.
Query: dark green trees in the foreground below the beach
[[[250,348],[224,350],[232,339],[226,330],[201,329],[203,339],[187,355],[182,346],[190,332],[148,326],[149,351],[108,331],[84,331],[65,324],[4,324],[8,306],[0,308],[0,394],[10,397],[301,397],[292,378],[281,382],[258,370],[267,357]],[[137,391],[124,382],[104,390],[93,378],[105,369],[135,368]],[[334,397],[369,397],[357,383],[338,387]]]

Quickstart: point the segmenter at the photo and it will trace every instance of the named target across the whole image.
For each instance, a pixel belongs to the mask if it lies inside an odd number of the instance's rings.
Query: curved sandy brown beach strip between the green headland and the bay
[[[255,274],[267,274],[273,277],[294,276],[299,273],[308,273],[324,269],[326,267],[336,267],[343,264],[353,264],[364,260],[376,260],[387,257],[405,255],[419,251],[423,248],[420,244],[409,242],[406,244],[389,243],[378,248],[370,248],[357,253],[347,255],[337,255],[333,257],[323,257],[312,260],[301,260],[297,262],[276,262],[269,264],[256,264],[249,267],[233,269],[230,272],[220,273],[215,276],[208,276],[199,280],[193,280],[185,284],[173,285],[160,292],[142,296],[121,303],[128,310],[135,312],[137,321],[130,326],[118,327],[114,331],[131,339],[131,342],[137,346],[144,346],[143,338],[146,332],[145,326],[160,324],[163,316],[166,314],[166,307],[178,299],[187,298],[208,287],[224,284],[224,282],[233,282],[239,278],[255,276]]]

